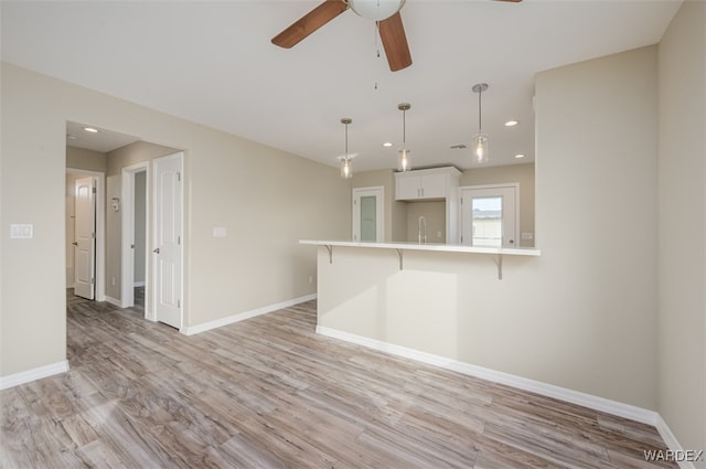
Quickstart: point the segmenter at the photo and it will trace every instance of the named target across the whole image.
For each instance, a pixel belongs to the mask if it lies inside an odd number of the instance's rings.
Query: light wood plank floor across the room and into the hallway
[[[654,428],[314,334],[184,337],[69,298],[71,371],[2,391],[2,468],[654,468]]]

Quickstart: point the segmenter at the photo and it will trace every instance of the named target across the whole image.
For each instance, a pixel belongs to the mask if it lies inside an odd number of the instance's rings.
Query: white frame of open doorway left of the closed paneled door
[[[122,168],[121,174],[121,195],[122,215],[121,222],[121,236],[120,236],[120,307],[130,308],[135,306],[135,249],[132,245],[135,243],[135,175],[138,172],[146,172],[146,227],[145,227],[145,246],[149,252],[150,247],[150,162],[141,161],[139,163],[130,164]],[[148,298],[148,291],[150,288],[148,273],[150,270],[150,256],[145,256],[145,298]],[[151,312],[149,311],[147,300],[145,301],[145,318],[150,319]]]

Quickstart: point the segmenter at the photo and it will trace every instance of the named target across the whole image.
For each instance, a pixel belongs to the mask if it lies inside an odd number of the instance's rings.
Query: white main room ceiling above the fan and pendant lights
[[[3,61],[331,166],[344,151],[340,120],[351,117],[356,171],[396,167],[397,105],[407,102],[413,166],[467,169],[468,150],[450,147],[470,145],[478,129],[473,84],[490,85],[491,164],[532,161],[534,74],[654,44],[681,2],[407,0],[414,63],[392,73],[374,23],[352,11],[291,50],[270,43],[315,0],[2,0],[1,51]],[[509,119],[520,125],[504,127]]]

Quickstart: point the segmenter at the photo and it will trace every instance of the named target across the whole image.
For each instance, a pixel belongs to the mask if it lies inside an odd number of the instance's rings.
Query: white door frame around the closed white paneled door
[[[184,271],[185,271],[185,268],[184,268],[184,262],[185,262],[185,259],[184,259],[184,246],[186,244],[186,239],[185,239],[185,236],[184,236],[184,225],[185,225],[185,220],[184,220],[184,212],[185,212],[185,207],[184,207],[184,196],[185,196],[185,194],[184,194],[184,192],[185,191],[184,191],[184,186],[186,185],[185,184],[185,180],[186,180],[185,178],[186,177],[184,174],[184,159],[185,159],[184,151],[176,151],[174,153],[170,153],[170,154],[165,154],[163,157],[154,158],[152,160],[153,175],[151,178],[154,179],[154,178],[158,177],[157,169],[154,169],[156,166],[157,166],[157,162],[158,161],[164,161],[164,160],[168,160],[168,159],[179,159],[179,172],[181,174],[181,190],[180,190],[180,194],[179,194],[179,196],[180,196],[180,201],[179,202],[180,202],[180,207],[181,207],[181,226],[180,226],[181,239],[180,239],[180,243],[179,243],[179,255],[181,256],[181,268],[180,268],[181,271],[179,273],[179,281],[181,283],[181,288],[180,288],[180,291],[179,291],[179,315],[180,315],[180,318],[179,318],[179,323],[180,323],[179,331],[181,333],[185,333],[184,332],[185,331],[185,324],[184,324],[184,317],[185,317],[185,315],[184,315],[184,289],[185,289],[184,288],[184,286],[185,286],[185,284],[184,284],[184,277],[185,277],[184,276]],[[149,174],[148,174],[148,181],[149,180],[150,180],[150,178],[149,178]],[[154,185],[157,185],[156,182],[154,182]],[[150,185],[149,185],[149,182],[148,182],[148,188],[149,186]],[[150,189],[150,191],[151,191],[151,189]],[[159,211],[159,207],[157,206],[157,196],[156,196],[156,194],[152,194],[151,192],[149,192],[149,193],[151,195],[148,198],[149,199],[148,205],[150,203],[153,205],[154,215],[151,216],[151,217],[148,217],[148,225],[149,225],[150,228],[153,228],[152,224],[157,223],[157,220],[158,220],[157,213]],[[149,258],[148,265],[151,265],[152,259],[154,257],[152,255],[153,254],[152,246],[157,245],[157,243],[158,243],[158,241],[156,239],[157,235],[158,235],[157,234],[157,230],[150,230],[150,243],[147,245],[147,251],[148,251],[147,257]],[[150,321],[154,321],[154,322],[157,322],[157,300],[158,300],[158,291],[157,291],[157,289],[159,288],[158,287],[159,283],[157,281],[157,275],[158,275],[157,270],[158,270],[157,268],[152,268],[151,269],[151,273],[152,273],[151,274],[152,275],[151,280],[153,283],[152,285],[154,285],[154,288],[153,288],[154,291],[152,292],[152,295],[150,295],[150,298],[151,298],[151,301],[150,301],[151,308],[150,308],[150,310],[151,311],[150,311],[150,316],[149,317],[147,316],[147,309],[148,309],[147,308],[147,298],[148,298],[147,297],[147,288],[146,288],[146,307],[145,307],[145,309],[146,309],[146,316],[145,317],[147,319],[149,319]],[[147,281],[146,281],[146,284],[147,284]]]

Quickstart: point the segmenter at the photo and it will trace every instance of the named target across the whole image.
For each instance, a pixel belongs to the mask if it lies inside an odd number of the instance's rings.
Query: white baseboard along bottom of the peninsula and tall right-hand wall
[[[605,397],[593,396],[591,394],[581,393],[579,391],[568,390],[566,387],[556,386],[554,384],[547,384],[539,381],[516,376],[510,373],[473,365],[470,363],[460,362],[458,360],[447,359],[445,356],[439,356],[427,352],[420,352],[418,350],[352,334],[349,332],[340,331],[338,329],[327,328],[324,326],[317,326],[317,333],[333,339],[343,340],[345,342],[355,343],[357,345],[367,347],[381,352],[391,353],[393,355],[416,360],[418,362],[439,366],[445,370],[451,370],[469,376],[480,377],[482,380],[492,381],[494,383],[504,384],[523,391],[530,391],[547,397],[554,397],[571,404],[592,408],[593,411],[600,411],[607,414],[616,415],[618,417],[623,417],[643,424],[652,425],[657,429],[657,431],[664,439],[664,443],[666,443],[667,447],[671,450],[682,450],[682,446],[678,444],[676,437],[672,434],[664,419],[654,411],[649,411],[646,408],[637,407],[630,404],[607,399]],[[686,466],[684,466],[681,461],[680,467],[682,469],[694,468],[693,463],[686,462]]]

